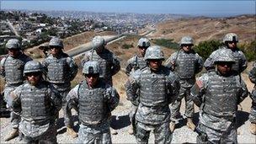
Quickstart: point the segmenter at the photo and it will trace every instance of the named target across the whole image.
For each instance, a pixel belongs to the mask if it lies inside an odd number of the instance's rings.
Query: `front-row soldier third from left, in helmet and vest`
[[[145,60],[148,67],[131,72],[125,83],[127,99],[131,103],[135,103],[137,97],[140,99],[136,111],[136,141],[147,143],[150,131],[154,131],[155,143],[170,143],[168,104],[179,93],[179,77],[162,65],[164,57],[159,46],[148,47]]]

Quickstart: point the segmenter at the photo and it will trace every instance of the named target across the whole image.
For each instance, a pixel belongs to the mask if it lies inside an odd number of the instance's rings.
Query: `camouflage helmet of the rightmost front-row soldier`
[[[232,51],[230,49],[216,50],[216,55],[214,57],[214,63],[216,64],[218,62],[235,63],[234,56],[232,56]]]

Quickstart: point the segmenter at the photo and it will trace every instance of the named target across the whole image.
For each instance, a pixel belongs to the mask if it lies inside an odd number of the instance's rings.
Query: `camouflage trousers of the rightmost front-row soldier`
[[[229,126],[227,131],[214,130],[205,125],[200,124],[200,129],[204,129],[207,137],[207,143],[216,144],[237,144],[237,129],[234,123]]]

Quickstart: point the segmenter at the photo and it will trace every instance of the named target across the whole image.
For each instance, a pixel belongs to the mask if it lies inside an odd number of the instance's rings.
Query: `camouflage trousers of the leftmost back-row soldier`
[[[19,128],[19,121],[20,121],[20,116],[17,115],[16,113],[13,112],[13,109],[10,108],[10,99],[9,95],[10,93],[14,90],[15,88],[13,87],[6,87],[4,89],[4,100],[7,103],[7,108],[11,111],[10,117],[11,117],[11,124],[13,129],[18,129]]]

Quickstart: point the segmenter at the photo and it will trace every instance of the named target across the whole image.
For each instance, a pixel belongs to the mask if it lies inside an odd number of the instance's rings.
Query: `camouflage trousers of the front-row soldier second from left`
[[[80,125],[77,143],[111,144],[109,124],[103,125],[103,127]]]

